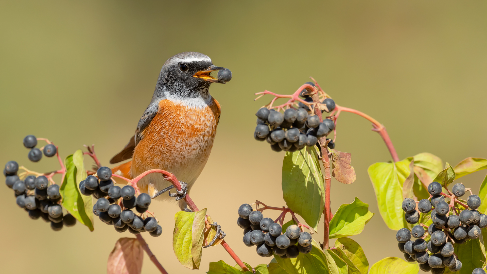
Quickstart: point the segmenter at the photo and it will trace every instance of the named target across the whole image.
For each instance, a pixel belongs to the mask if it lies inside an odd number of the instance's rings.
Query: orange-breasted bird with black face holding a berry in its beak
[[[217,70],[228,69],[213,65],[208,56],[199,52],[183,52],[169,58],[162,66],[134,136],[110,163],[131,160],[112,168],[112,173],[131,179],[151,169],[162,169],[185,182],[189,192],[206,165],[220,121],[220,104],[209,94],[209,87],[229,79],[220,81],[210,75]],[[144,176],[137,186],[152,198],[171,198],[160,195],[171,186],[162,174]],[[190,211],[184,199],[179,199],[181,210]]]

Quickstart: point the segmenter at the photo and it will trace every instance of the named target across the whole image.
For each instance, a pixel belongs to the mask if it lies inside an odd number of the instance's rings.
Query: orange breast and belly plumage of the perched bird
[[[219,117],[220,104],[214,98],[203,108],[162,100],[135,147],[132,177],[150,169],[164,169],[189,185],[194,183],[211,152]],[[164,182],[155,178],[148,176],[142,184],[147,187],[153,183],[161,190]]]

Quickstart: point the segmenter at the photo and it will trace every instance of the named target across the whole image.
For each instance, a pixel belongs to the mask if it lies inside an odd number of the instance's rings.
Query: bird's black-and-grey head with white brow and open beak
[[[211,83],[225,83],[211,75],[225,69],[213,65],[211,59],[199,52],[183,52],[169,58],[163,65],[157,89],[164,88],[167,98],[196,98],[208,94]]]

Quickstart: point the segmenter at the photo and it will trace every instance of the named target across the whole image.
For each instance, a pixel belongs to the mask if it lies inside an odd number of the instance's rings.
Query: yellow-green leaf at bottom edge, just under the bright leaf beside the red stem
[[[351,238],[339,238],[335,241],[335,247],[340,252],[337,255],[347,262],[350,274],[367,274],[369,272],[369,261],[362,247],[356,241]]]

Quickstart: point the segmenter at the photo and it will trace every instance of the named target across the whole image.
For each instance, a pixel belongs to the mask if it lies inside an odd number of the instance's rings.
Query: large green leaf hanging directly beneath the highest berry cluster
[[[286,152],[282,162],[282,194],[287,206],[318,229],[323,213],[323,176],[316,151],[306,147]]]

